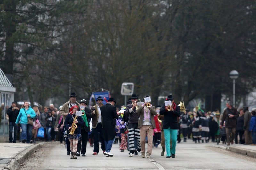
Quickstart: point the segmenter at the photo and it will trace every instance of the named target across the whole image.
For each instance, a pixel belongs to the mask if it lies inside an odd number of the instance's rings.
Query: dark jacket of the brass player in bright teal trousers
[[[180,117],[180,106],[176,105],[176,109],[172,111],[167,111],[165,105],[160,109],[160,115],[164,115],[164,120],[162,122],[163,129],[179,129],[177,117]]]

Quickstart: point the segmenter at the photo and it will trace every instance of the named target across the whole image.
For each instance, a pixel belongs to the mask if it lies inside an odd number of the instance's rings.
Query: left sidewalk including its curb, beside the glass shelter
[[[43,144],[44,142],[38,144],[0,143],[0,170],[20,169],[20,165]]]

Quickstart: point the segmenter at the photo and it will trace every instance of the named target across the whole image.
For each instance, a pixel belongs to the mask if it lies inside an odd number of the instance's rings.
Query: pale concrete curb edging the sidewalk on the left
[[[4,167],[4,170],[19,170],[20,165],[29,157],[31,157],[31,155],[36,152],[37,149],[41,148],[43,144],[45,144],[45,142],[40,142],[20,152],[14,157],[13,160],[11,160],[11,162],[7,166]]]

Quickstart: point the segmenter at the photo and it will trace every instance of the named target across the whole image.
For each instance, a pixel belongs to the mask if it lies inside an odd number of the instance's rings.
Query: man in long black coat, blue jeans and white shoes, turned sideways
[[[103,117],[103,131],[104,131],[104,140],[105,140],[105,152],[104,155],[113,156],[110,153],[112,144],[115,140],[116,135],[116,119],[118,119],[118,114],[116,113],[116,107],[114,106],[116,101],[114,98],[109,98],[105,106],[101,106],[101,115]],[[102,141],[104,142],[104,141]]]

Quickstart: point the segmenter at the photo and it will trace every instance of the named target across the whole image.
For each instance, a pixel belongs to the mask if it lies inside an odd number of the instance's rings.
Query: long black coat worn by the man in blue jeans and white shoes
[[[116,107],[107,103],[104,106],[100,107],[101,116],[102,116],[102,126],[104,132],[104,140],[109,141],[113,140],[116,136],[116,126],[112,125],[112,120],[118,119],[118,115],[116,113]]]

